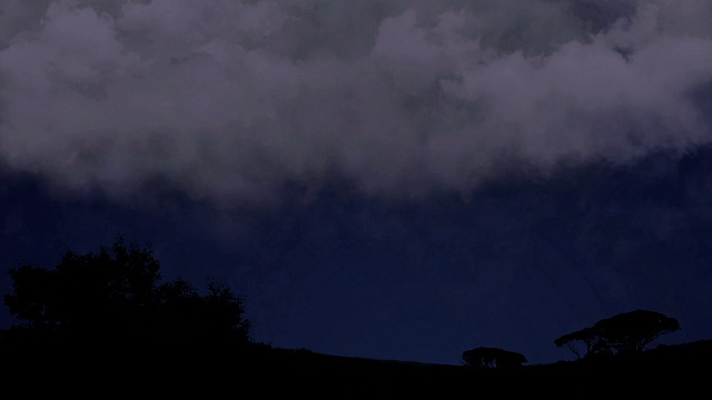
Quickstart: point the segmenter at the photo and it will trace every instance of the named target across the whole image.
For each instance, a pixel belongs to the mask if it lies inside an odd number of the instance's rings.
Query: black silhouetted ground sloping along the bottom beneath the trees
[[[189,343],[2,341],[2,386],[12,398],[246,399],[705,398],[712,340],[635,357],[512,370],[336,357],[308,350]]]

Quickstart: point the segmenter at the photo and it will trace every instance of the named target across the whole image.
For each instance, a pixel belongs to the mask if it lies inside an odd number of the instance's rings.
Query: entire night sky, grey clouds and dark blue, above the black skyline
[[[709,0],[0,0],[0,289],[117,234],[255,341],[712,339]],[[0,310],[2,327],[12,323]]]

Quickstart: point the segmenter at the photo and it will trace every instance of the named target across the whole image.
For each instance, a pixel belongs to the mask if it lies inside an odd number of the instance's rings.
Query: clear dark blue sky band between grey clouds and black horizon
[[[38,180],[4,176],[0,251],[3,267],[52,267],[66,248],[121,233],[150,242],[167,279],[216,278],[243,293],[258,341],[439,363],[495,346],[554,362],[573,357],[558,336],[636,308],[681,322],[656,343],[712,337],[711,181],[703,150],[411,206],[344,187],[304,204],[293,190],[293,204],[225,213],[216,230],[205,204],[177,194],[158,209],[58,201]]]

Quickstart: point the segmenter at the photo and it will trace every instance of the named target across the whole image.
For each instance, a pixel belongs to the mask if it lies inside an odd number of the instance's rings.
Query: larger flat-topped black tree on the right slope
[[[574,343],[585,344],[583,358],[594,354],[637,353],[664,333],[680,330],[676,319],[660,312],[634,310],[596,322],[593,327],[566,333],[554,340],[557,347],[567,346],[581,359]]]

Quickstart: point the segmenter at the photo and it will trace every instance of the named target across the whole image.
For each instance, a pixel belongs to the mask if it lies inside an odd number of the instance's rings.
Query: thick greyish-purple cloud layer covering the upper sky
[[[625,163],[710,140],[711,19],[704,0],[9,0],[0,164],[239,204]]]

